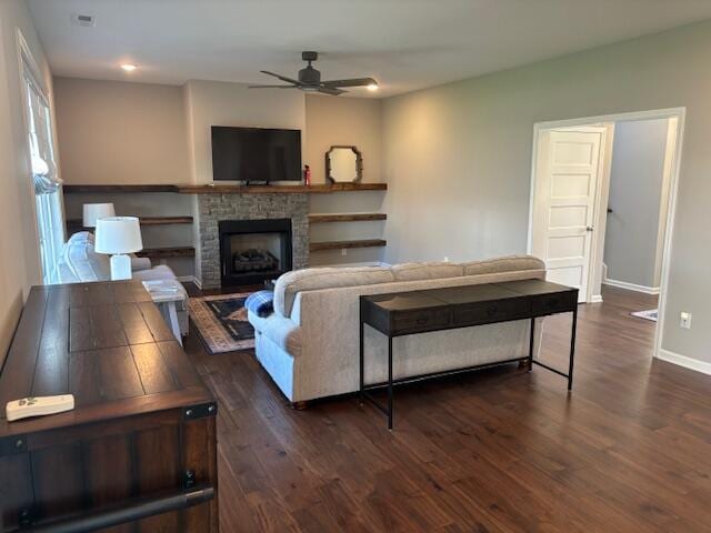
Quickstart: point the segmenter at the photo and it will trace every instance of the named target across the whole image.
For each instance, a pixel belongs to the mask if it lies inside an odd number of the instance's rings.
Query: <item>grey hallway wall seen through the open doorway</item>
[[[617,122],[603,260],[607,278],[658,289],[668,119]]]

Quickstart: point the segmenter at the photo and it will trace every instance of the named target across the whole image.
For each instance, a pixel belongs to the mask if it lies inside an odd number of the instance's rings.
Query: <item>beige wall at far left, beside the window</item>
[[[17,29],[52,97],[52,79],[22,0],[0,1],[0,364],[30,285],[41,283],[37,219],[22,117]]]

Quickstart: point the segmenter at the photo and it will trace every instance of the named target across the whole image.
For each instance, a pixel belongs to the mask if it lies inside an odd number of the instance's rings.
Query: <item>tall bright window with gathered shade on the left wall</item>
[[[22,92],[29,135],[37,229],[42,278],[46,284],[58,281],[57,264],[64,243],[61,180],[57,177],[52,122],[48,99],[34,76],[37,69],[27,44],[19,36],[22,60]]]

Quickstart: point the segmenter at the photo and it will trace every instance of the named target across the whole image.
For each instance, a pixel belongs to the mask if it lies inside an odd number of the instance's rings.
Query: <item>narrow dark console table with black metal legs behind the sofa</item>
[[[557,313],[572,312],[570,359],[568,373],[553,369],[533,359],[535,319]],[[472,325],[493,324],[514,320],[530,320],[531,335],[529,354],[495,363],[485,363],[465,369],[408,376],[393,380],[392,339],[429,331],[452,330]],[[568,390],[573,384],[573,360],[575,354],[575,328],[578,323],[578,289],[542,280],[507,281],[479,285],[429,289],[360,296],[360,398],[371,401],[388,416],[388,429],[392,429],[393,385],[427,378],[480,370],[512,362],[528,362],[529,370],[538,364],[568,379]],[[388,381],[372,385],[364,383],[363,331],[365,324],[388,336]],[[369,391],[388,389],[388,406],[382,406]]]

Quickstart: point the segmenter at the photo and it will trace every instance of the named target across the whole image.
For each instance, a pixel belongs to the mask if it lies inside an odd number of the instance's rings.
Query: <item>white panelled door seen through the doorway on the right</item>
[[[588,301],[595,199],[604,127],[548,130],[539,137],[531,251],[548,280],[580,289]]]

